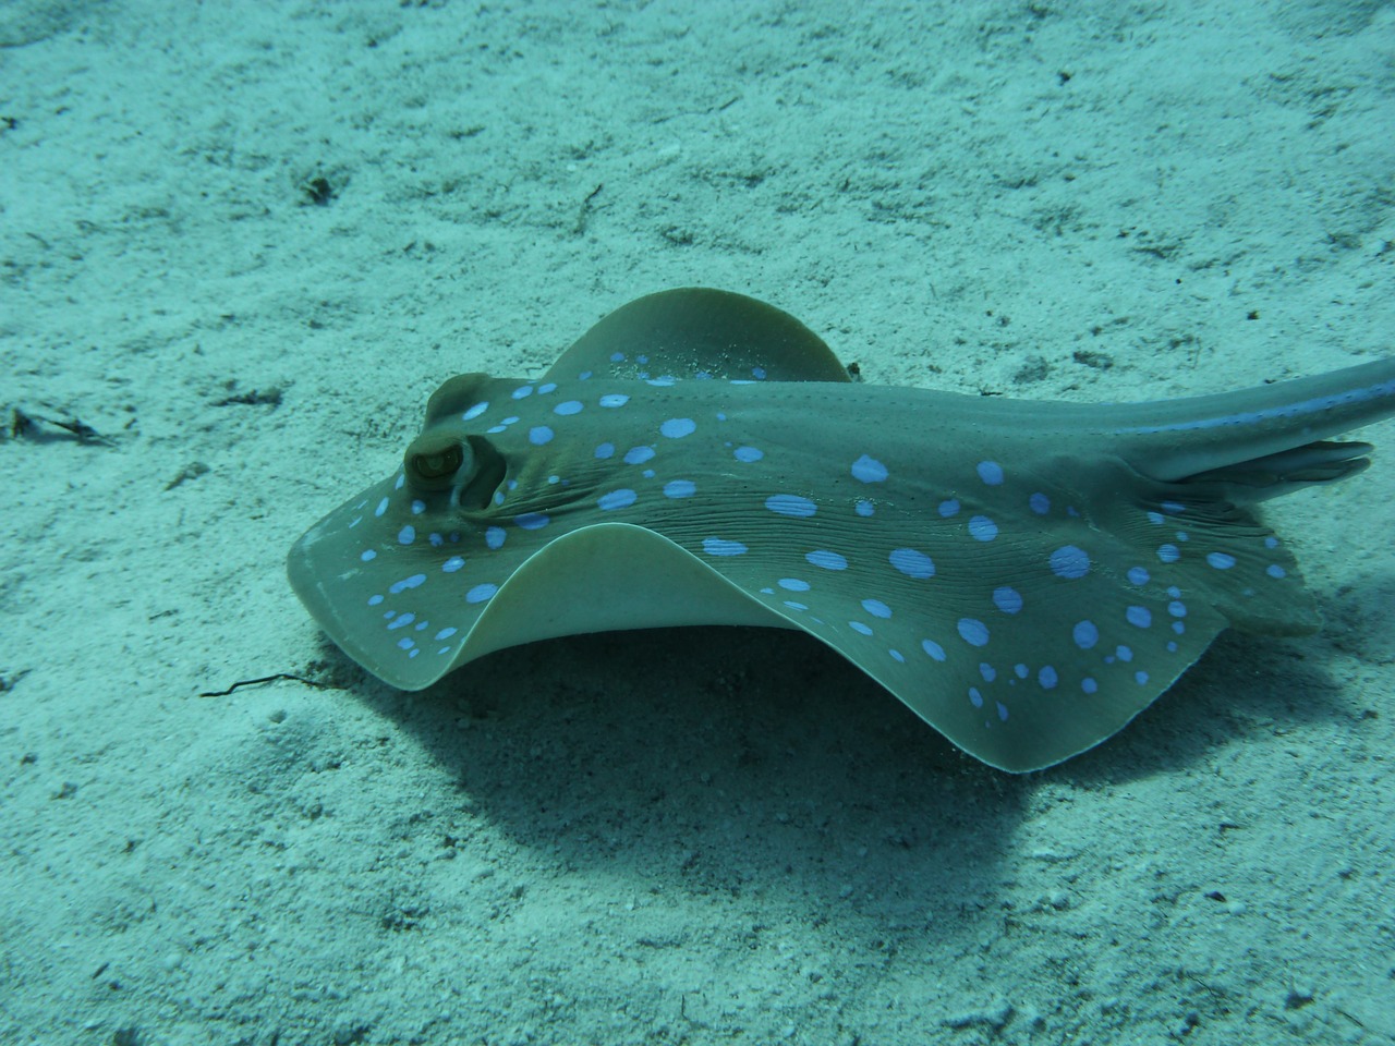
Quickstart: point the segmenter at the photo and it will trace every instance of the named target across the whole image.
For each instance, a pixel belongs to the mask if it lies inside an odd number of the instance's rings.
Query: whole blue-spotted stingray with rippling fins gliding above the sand
[[[541,378],[462,374],[402,464],[289,556],[319,626],[420,690],[520,643],[808,632],[995,767],[1119,731],[1226,628],[1320,625],[1267,498],[1362,471],[1395,358],[1057,403],[854,382],[741,294],[611,312]]]

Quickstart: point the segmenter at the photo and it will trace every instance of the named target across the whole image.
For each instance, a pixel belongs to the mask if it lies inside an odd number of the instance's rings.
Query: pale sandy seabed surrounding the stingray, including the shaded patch
[[[1388,424],[1267,515],[1324,632],[1025,777],[794,633],[403,695],[283,573],[661,287],[960,392],[1389,353],[1392,95],[1357,0],[6,3],[0,1040],[1395,1042]]]

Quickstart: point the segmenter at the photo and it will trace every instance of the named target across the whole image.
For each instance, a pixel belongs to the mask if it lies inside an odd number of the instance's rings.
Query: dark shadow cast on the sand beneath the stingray
[[[420,695],[353,689],[477,816],[564,870],[787,891],[815,919],[851,891],[873,922],[954,912],[971,934],[996,918],[1039,787],[1186,768],[1274,721],[1331,715],[1341,689],[1306,657],[1320,649],[1230,633],[1124,731],[1028,775],[965,756],[836,653],[776,629],[576,636]]]

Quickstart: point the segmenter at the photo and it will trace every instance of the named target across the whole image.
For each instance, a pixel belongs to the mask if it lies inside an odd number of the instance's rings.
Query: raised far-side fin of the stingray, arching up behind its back
[[[813,331],[764,301],[678,287],[608,314],[562,353],[550,381],[589,375],[646,381],[851,381]]]

